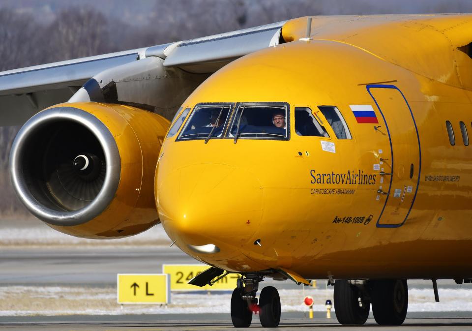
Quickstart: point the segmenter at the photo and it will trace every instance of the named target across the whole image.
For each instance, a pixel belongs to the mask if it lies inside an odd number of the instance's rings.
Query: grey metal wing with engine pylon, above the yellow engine
[[[143,105],[172,117],[210,74],[277,45],[284,23],[0,72],[0,125],[21,125],[69,100]]]

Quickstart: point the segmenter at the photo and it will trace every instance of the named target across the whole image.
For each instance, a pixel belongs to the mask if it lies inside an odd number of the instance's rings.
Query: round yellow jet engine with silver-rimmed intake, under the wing
[[[63,103],[21,128],[13,187],[36,217],[83,238],[132,236],[159,223],[154,176],[169,121],[138,108]]]

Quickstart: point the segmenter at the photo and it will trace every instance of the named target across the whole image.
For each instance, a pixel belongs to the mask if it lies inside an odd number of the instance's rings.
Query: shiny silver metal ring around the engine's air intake
[[[95,136],[105,156],[105,180],[97,196],[84,208],[58,211],[41,204],[29,190],[23,175],[23,164],[30,140],[47,125],[73,121],[83,125]],[[113,201],[120,180],[121,163],[118,146],[110,130],[95,116],[74,107],[56,107],[31,117],[20,129],[10,152],[10,176],[13,187],[28,210],[42,221],[58,226],[74,226],[100,215]]]

